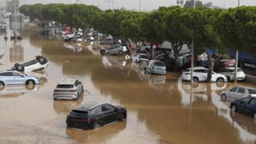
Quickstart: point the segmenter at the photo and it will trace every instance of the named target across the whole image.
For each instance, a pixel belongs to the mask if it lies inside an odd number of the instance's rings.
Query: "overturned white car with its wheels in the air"
[[[36,56],[35,60],[32,60],[30,62],[26,63],[15,63],[14,67],[12,67],[12,70],[17,70],[17,71],[37,71],[37,70],[42,70],[46,69],[47,66],[49,65],[47,58],[43,56]]]

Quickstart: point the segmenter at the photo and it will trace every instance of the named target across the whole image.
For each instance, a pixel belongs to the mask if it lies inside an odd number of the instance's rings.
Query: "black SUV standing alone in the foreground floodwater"
[[[126,117],[125,107],[91,102],[75,107],[68,115],[66,124],[68,128],[88,130],[99,128],[116,120],[123,120]]]

